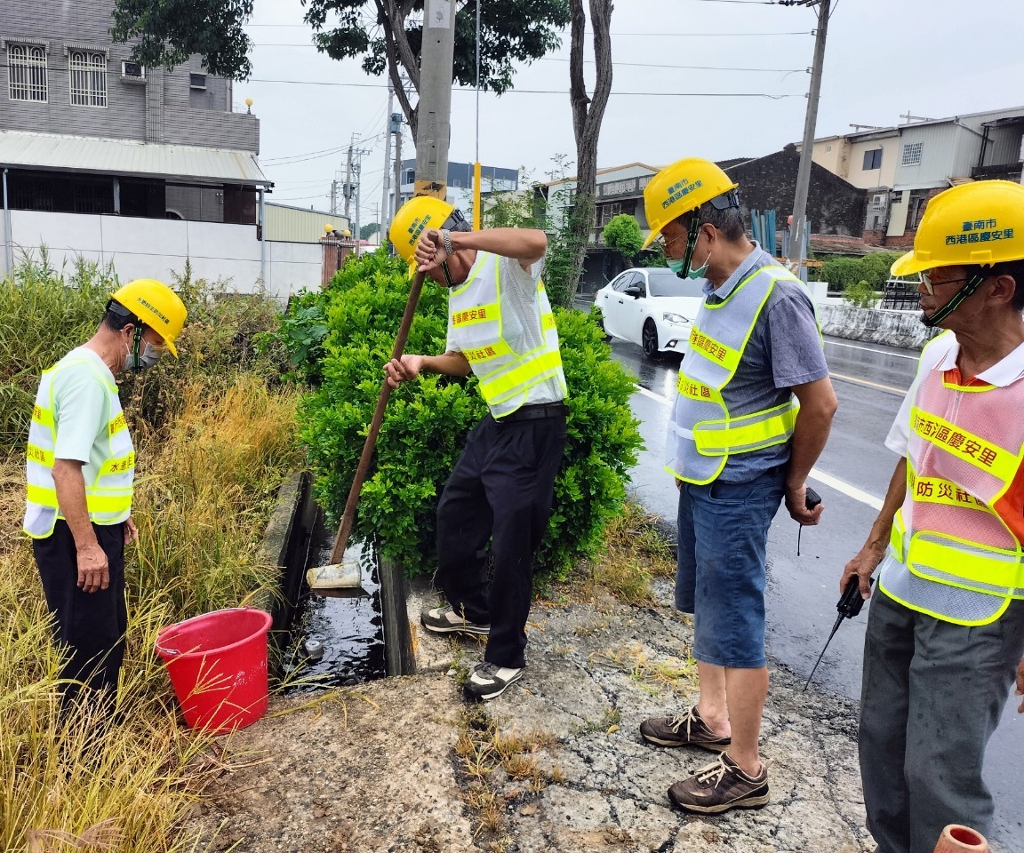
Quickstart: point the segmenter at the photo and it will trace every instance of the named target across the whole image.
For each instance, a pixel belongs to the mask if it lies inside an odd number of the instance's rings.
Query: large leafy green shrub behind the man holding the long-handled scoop
[[[408,268],[383,253],[349,261],[324,294],[289,312],[317,306],[330,329],[318,366],[303,368],[319,386],[299,420],[321,506],[337,521],[351,485],[367,425],[409,295]],[[564,579],[601,544],[621,510],[625,480],[641,439],[629,407],[634,381],[615,362],[585,313],[555,309],[568,385],[568,445],[555,484],[548,536],[538,557],[545,579]],[[444,351],[447,295],[429,281],[407,352]],[[301,335],[289,333],[292,339]],[[466,434],[486,414],[476,379],[425,375],[392,391],[362,486],[353,542],[370,543],[411,574],[436,566],[437,499]]]

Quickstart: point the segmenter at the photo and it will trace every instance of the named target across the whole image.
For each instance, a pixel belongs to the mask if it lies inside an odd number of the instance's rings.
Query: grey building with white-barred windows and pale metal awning
[[[133,61],[130,44],[111,41],[113,8],[5,0],[0,168],[9,206],[255,225],[269,184],[256,160],[259,120],[233,112],[231,81],[208,75],[199,57],[174,71]],[[231,156],[189,158],[193,148]]]

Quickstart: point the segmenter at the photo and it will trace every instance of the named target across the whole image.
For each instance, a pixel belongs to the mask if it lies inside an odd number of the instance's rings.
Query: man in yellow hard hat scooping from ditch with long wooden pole
[[[395,214],[390,238],[411,265],[449,288],[444,353],[392,360],[391,386],[423,372],[472,371],[490,411],[466,439],[437,506],[434,583],[449,606],[421,614],[432,633],[487,638],[465,692],[490,699],[526,666],[534,555],[565,449],[565,376],[541,282],[548,239],[529,228],[473,231],[452,205],[426,196]]]

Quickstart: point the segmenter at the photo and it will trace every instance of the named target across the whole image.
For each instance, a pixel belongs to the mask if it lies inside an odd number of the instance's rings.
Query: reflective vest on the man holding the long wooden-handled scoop
[[[502,322],[500,269],[501,256],[479,252],[465,284],[449,295],[453,340],[479,379],[480,392],[496,418],[523,406],[529,389],[547,379],[556,379],[565,393],[558,330],[544,283],[537,283],[530,313],[518,318],[524,329],[540,331],[535,336],[540,345],[531,346],[524,334],[513,335]]]

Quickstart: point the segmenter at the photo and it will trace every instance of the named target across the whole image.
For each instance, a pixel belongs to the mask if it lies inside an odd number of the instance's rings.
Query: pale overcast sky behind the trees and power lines
[[[327,210],[331,180],[343,177],[356,134],[371,152],[360,218],[375,221],[386,82],[367,77],[357,60],[319,54],[302,11],[298,0],[256,3],[253,77],[236,84],[236,109],[253,98],[260,160],[276,184],[271,201],[286,204]],[[759,157],[799,141],[816,23],[814,9],[754,0],[617,0],[598,166]],[[942,118],[1022,105],[1022,33],[1021,0],[834,0],[815,135],[850,132],[851,123],[901,124],[908,112]],[[556,155],[574,164],[567,30],[562,44],[523,67],[514,90],[480,93],[484,165],[522,167],[547,180]],[[453,92],[450,160],[476,157],[476,99],[473,89]],[[415,156],[408,129],[402,155]]]

